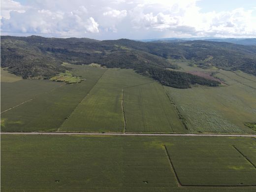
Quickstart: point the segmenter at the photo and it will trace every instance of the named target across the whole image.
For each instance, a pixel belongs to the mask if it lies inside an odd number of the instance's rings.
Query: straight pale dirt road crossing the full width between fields
[[[1,134],[25,135],[118,135],[118,136],[213,136],[213,137],[256,137],[239,134],[160,134],[160,133],[95,133],[95,132],[1,132]]]

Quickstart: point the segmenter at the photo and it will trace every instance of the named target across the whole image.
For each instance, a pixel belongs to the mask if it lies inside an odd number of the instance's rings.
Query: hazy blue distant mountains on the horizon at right
[[[256,38],[213,38],[213,37],[193,37],[193,38],[160,38],[160,39],[142,39],[142,42],[183,42],[192,40],[206,40],[216,42],[235,43],[239,45],[256,45]]]

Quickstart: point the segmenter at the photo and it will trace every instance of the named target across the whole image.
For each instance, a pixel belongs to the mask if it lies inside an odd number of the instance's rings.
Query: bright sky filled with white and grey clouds
[[[256,0],[1,0],[1,35],[256,37]]]

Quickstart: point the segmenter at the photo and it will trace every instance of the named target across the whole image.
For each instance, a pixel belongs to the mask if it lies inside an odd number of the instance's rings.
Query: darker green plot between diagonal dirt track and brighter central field
[[[2,113],[1,130],[57,130],[79,102],[94,87],[104,71],[105,69],[79,66],[75,72],[81,74],[82,78],[86,79],[82,83],[73,85],[63,84],[63,86],[60,86],[60,83],[51,82],[53,84],[58,84],[59,87],[50,92],[35,96],[29,102]],[[33,92],[35,91],[32,88],[31,90]],[[4,93],[5,92],[6,91],[4,90]],[[27,95],[27,93],[21,93]]]

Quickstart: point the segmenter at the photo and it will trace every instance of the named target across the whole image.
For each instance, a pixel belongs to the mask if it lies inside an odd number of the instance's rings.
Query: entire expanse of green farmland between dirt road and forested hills
[[[241,71],[202,69],[177,62],[180,71],[215,72],[223,86],[175,89],[131,69],[65,64],[81,83],[22,79],[1,82],[4,131],[253,133],[256,78]],[[3,73],[3,78],[13,74]],[[14,107],[14,108],[12,108]],[[5,111],[9,109],[8,111]],[[4,112],[5,111],[5,112]]]

